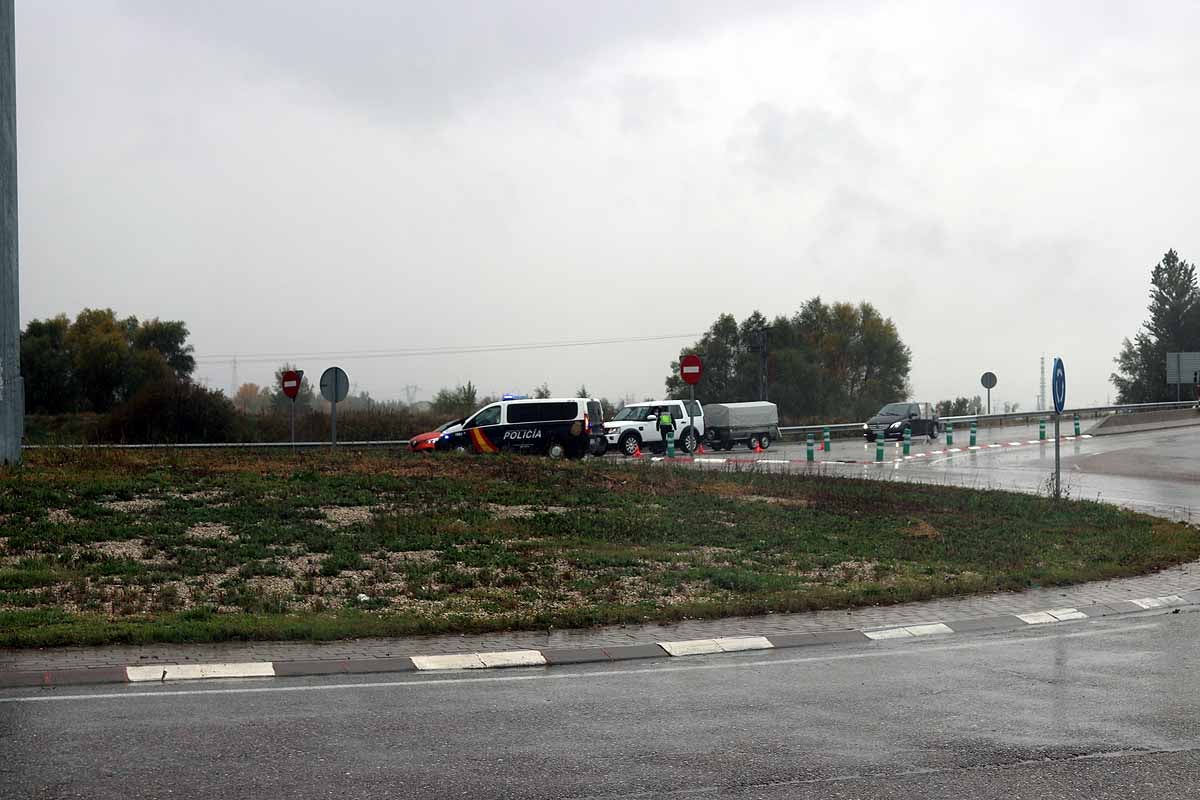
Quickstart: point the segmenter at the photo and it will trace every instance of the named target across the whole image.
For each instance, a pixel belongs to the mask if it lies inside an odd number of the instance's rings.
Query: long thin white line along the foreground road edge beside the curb
[[[73,700],[124,700],[124,699],[154,699],[163,697],[204,697],[209,694],[269,694],[272,692],[329,692],[354,688],[437,688],[440,686],[456,686],[460,684],[509,684],[529,680],[575,680],[575,679],[604,679],[620,678],[625,675],[660,675],[689,670],[713,670],[713,669],[748,669],[755,667],[786,667],[804,663],[829,663],[836,661],[858,661],[862,658],[886,658],[894,656],[923,655],[929,652],[949,652],[954,650],[984,650],[998,646],[1024,646],[1027,644],[1040,644],[1057,639],[1079,639],[1094,636],[1127,636],[1138,631],[1146,631],[1162,627],[1162,622],[1142,622],[1139,625],[1122,624],[1120,627],[1094,627],[1081,631],[1058,632],[1046,636],[1028,636],[1019,638],[982,638],[978,640],[956,640],[946,644],[928,644],[907,649],[880,648],[870,650],[858,650],[854,652],[824,654],[818,656],[799,656],[796,658],[775,657],[761,661],[743,661],[731,658],[714,663],[686,662],[659,662],[655,667],[636,667],[632,669],[616,668],[607,672],[556,672],[538,670],[529,673],[490,673],[473,678],[418,678],[409,680],[341,682],[341,684],[304,684],[304,685],[280,685],[272,682],[269,686],[252,687],[224,687],[224,688],[178,688],[178,690],[125,690],[120,692],[98,692],[95,694],[32,694],[29,697],[0,697],[4,703],[64,703]],[[616,664],[610,664],[616,667]],[[44,690],[43,690],[44,691]]]

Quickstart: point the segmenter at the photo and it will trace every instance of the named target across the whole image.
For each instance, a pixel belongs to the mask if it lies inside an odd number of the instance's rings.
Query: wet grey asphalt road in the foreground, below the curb
[[[1194,798],[1200,614],[0,694],[5,798]],[[37,698],[37,699],[34,699]]]

